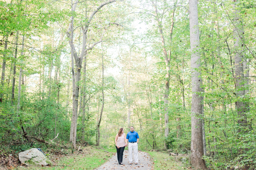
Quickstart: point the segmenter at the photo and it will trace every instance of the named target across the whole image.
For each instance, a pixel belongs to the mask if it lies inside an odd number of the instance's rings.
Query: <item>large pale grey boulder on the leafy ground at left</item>
[[[38,149],[32,148],[24,152],[19,153],[19,159],[21,163],[25,165],[38,165],[47,166],[52,165],[52,162]]]

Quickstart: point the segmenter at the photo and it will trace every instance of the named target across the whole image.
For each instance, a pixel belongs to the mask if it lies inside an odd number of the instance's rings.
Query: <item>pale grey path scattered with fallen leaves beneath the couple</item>
[[[135,165],[134,163],[132,165],[129,165],[129,154],[127,150],[124,150],[124,156],[123,156],[123,164],[119,165],[117,161],[116,153],[112,158],[103,164],[102,166],[99,166],[96,170],[132,170],[132,169],[138,169],[138,170],[153,170],[152,162],[150,162],[150,157],[147,152],[138,152],[139,155],[139,163]],[[132,154],[132,158],[134,158],[134,155]]]

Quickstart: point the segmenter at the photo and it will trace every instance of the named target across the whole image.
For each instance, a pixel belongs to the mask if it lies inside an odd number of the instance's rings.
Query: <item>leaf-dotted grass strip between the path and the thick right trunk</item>
[[[148,152],[150,157],[153,158],[154,170],[184,170],[191,169],[185,164],[180,162],[177,157],[169,156],[168,153],[162,152]]]

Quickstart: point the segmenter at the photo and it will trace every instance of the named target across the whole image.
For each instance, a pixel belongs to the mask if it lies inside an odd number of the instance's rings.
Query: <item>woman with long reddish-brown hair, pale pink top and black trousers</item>
[[[126,135],[124,133],[124,129],[119,129],[118,133],[116,134],[115,143],[116,143],[116,152],[117,152],[117,160],[118,163],[123,165],[123,154],[124,148],[127,146]]]

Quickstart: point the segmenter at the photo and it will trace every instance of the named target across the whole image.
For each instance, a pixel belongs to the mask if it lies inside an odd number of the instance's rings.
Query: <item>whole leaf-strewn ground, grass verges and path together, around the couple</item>
[[[74,152],[67,155],[51,155],[50,158],[53,166],[0,166],[0,170],[17,169],[17,170],[184,170],[192,169],[188,161],[181,162],[182,156],[169,156],[163,152],[142,152],[139,151],[139,163],[135,165],[128,164],[128,151],[124,151],[123,163],[121,166],[116,161],[116,149],[103,149],[93,146],[82,148],[83,151]]]

